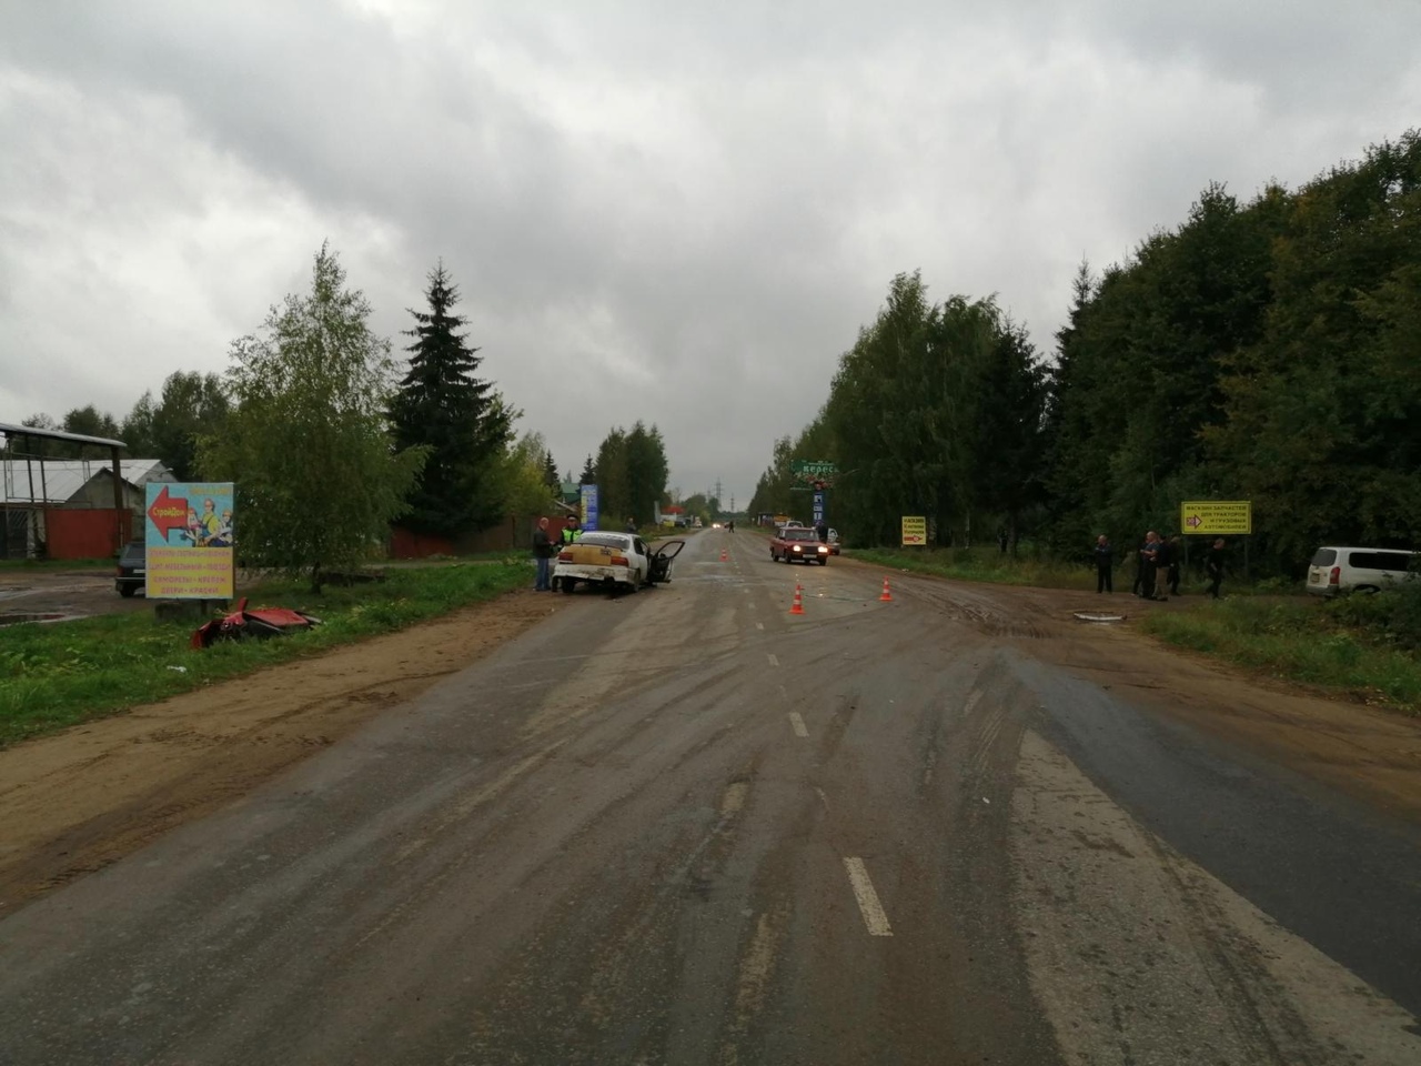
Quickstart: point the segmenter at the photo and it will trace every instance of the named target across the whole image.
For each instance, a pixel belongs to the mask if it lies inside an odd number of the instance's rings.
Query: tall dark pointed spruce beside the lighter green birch
[[[453,313],[459,289],[441,262],[429,273],[428,311],[409,313],[415,343],[409,371],[391,404],[396,448],[425,445],[429,458],[409,496],[406,524],[422,533],[453,536],[485,529],[503,507],[495,468],[512,439],[507,408],[489,381],[475,377],[483,362]]]

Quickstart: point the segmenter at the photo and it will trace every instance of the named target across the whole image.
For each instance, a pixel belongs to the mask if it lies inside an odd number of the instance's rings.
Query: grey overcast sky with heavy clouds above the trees
[[[441,257],[520,431],[743,506],[898,271],[1043,354],[1083,257],[1421,125],[1417,0],[0,0],[0,421],[117,418]]]

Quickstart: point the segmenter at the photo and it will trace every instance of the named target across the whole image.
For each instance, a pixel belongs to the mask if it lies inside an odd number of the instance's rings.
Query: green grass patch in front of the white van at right
[[[1357,624],[1347,601],[1242,597],[1188,611],[1155,611],[1141,628],[1169,644],[1265,671],[1421,712],[1421,661],[1384,627]]]

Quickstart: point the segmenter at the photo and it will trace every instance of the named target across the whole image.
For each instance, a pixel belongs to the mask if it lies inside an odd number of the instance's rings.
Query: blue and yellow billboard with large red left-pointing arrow
[[[144,583],[149,600],[236,596],[234,488],[232,482],[148,485]]]

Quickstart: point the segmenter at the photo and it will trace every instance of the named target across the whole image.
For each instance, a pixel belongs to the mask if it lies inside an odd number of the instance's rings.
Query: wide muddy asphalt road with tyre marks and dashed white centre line
[[[1415,826],[763,543],[6,918],[0,1062],[1421,1062]]]

